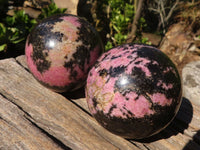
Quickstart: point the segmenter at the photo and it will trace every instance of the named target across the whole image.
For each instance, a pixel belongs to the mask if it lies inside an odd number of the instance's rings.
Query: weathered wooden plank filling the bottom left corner
[[[29,122],[16,105],[0,95],[0,149],[61,150],[62,147]]]

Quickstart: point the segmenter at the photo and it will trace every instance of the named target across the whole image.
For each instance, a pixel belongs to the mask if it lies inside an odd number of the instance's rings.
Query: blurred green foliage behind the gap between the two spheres
[[[98,10],[95,19],[97,30],[105,30],[105,20],[109,22],[105,49],[109,50],[112,47],[126,43],[135,16],[134,0],[102,0],[97,5]],[[146,26],[146,20],[140,17],[136,32],[137,41],[135,42],[148,43],[148,39],[143,39],[141,34]]]

